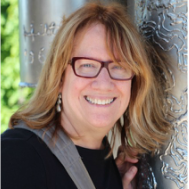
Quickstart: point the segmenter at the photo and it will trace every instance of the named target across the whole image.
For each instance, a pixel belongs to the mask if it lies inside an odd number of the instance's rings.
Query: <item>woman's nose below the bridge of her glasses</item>
[[[114,87],[114,81],[110,78],[106,68],[103,68],[98,77],[92,82],[92,88],[99,91],[112,91]]]

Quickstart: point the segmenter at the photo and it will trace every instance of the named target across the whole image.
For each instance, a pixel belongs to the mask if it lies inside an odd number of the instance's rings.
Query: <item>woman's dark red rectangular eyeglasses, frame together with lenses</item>
[[[113,80],[128,81],[134,77],[131,69],[113,61],[104,62],[92,58],[74,57],[70,64],[78,77],[96,78],[103,68],[108,70],[110,78]]]

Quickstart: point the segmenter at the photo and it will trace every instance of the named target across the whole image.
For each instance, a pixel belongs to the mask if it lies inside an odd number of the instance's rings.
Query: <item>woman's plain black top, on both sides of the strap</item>
[[[123,189],[109,148],[77,147],[96,189]],[[59,160],[35,134],[24,129],[0,135],[0,189],[77,189]]]

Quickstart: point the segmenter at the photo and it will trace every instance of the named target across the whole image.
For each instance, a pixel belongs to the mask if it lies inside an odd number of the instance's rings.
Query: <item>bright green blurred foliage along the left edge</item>
[[[30,89],[19,88],[18,0],[0,0],[0,133]]]

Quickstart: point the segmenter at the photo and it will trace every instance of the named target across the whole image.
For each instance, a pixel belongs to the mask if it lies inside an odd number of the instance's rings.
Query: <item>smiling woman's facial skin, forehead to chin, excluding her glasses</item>
[[[111,61],[103,25],[94,24],[77,34],[73,57]],[[104,129],[108,132],[127,109],[130,95],[131,81],[112,80],[106,68],[97,78],[86,79],[77,77],[68,65],[62,87],[63,122],[71,124],[75,130]],[[100,105],[113,99],[110,104]]]

